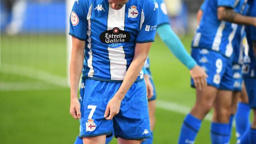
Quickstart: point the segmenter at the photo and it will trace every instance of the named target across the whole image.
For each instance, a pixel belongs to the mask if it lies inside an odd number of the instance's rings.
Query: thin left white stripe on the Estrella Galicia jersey
[[[88,12],[88,15],[87,15],[87,21],[88,21],[88,30],[87,30],[87,36],[88,36],[88,48],[90,49],[90,51],[88,52],[89,54],[89,58],[87,60],[87,64],[88,64],[88,67],[90,68],[89,72],[88,72],[88,76],[89,77],[93,77],[94,75],[94,70],[93,70],[93,67],[92,67],[92,49],[91,49],[91,46],[92,46],[92,38],[90,37],[91,36],[91,16],[92,16],[92,4],[89,8],[89,12]]]

